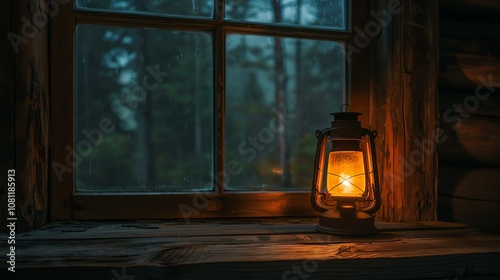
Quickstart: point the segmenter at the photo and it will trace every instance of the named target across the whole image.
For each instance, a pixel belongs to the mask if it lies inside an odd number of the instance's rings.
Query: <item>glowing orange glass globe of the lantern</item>
[[[361,197],[365,192],[365,166],[360,151],[330,152],[327,174],[332,196]]]

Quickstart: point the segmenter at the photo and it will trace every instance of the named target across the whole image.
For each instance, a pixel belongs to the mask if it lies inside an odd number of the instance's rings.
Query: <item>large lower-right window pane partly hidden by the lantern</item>
[[[309,191],[314,132],[345,96],[344,45],[231,34],[226,52],[226,188]]]

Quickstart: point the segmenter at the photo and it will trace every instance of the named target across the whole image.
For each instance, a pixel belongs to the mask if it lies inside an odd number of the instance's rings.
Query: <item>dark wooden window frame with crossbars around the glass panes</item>
[[[265,24],[224,21],[224,5],[216,3],[214,19],[185,19],[155,15],[121,14],[75,10],[74,1],[60,5],[52,18],[50,38],[50,212],[51,220],[222,218],[266,216],[314,216],[308,191],[222,192],[214,182],[215,192],[206,193],[139,193],[85,194],[75,192],[73,169],[59,181],[52,164],[66,163],[68,152],[74,150],[75,31],[77,24],[175,28],[177,30],[209,31],[214,34],[214,173],[224,171],[225,111],[225,43],[228,32],[298,37],[305,39],[341,40],[355,45],[353,26],[365,26],[369,17],[368,0],[346,1],[350,16],[346,31],[316,30]],[[351,6],[352,5],[352,6]],[[369,50],[363,49],[346,63],[346,102],[353,111],[363,113],[361,122],[368,125],[370,113]],[[352,81],[356,81],[353,83]],[[334,110],[334,108],[332,108]],[[327,118],[328,116],[325,116]],[[320,129],[314,128],[314,129]],[[313,168],[313,166],[311,166]],[[311,178],[312,182],[312,178]]]

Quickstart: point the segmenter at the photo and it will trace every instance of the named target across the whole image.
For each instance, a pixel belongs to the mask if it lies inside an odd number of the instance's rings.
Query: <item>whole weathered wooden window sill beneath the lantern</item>
[[[56,222],[17,234],[15,274],[116,280],[500,279],[499,235],[444,222],[378,221],[377,235],[339,237],[316,232],[316,224],[317,218]],[[0,237],[4,254],[7,236]],[[5,261],[0,267],[0,274],[10,273]]]

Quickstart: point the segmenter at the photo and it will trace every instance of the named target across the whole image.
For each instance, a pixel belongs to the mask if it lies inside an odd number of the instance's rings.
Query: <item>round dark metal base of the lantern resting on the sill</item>
[[[370,235],[378,232],[375,218],[356,209],[330,209],[319,216],[316,230],[333,235]]]

